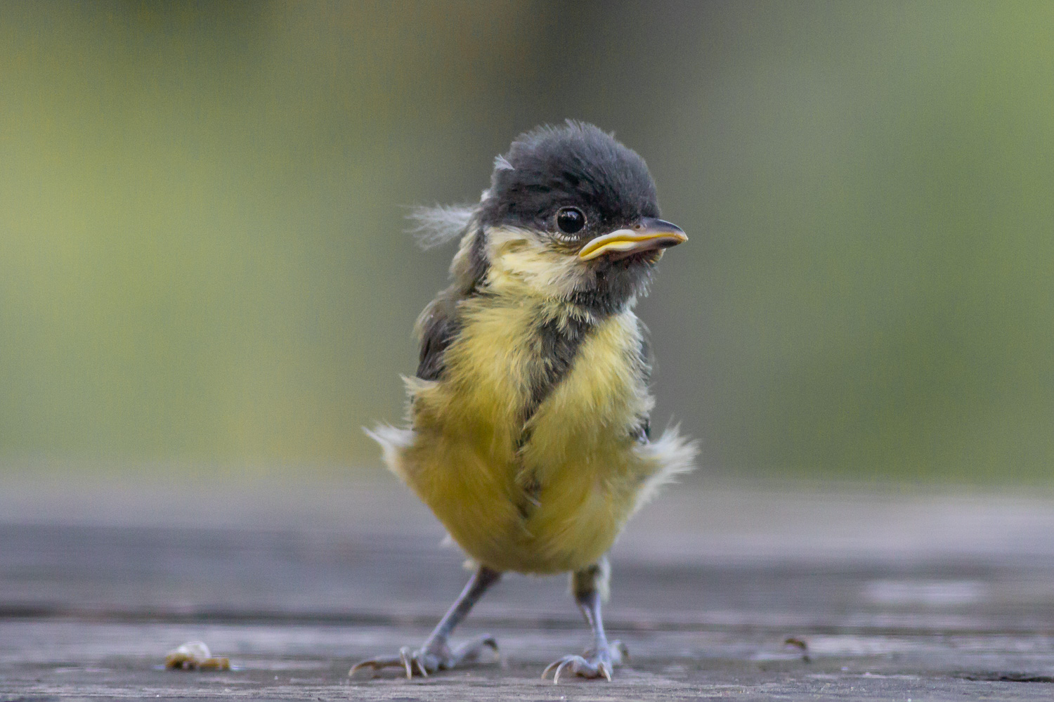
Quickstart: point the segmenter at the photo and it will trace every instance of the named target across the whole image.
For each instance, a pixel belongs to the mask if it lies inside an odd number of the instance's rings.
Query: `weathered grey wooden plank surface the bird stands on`
[[[393,481],[170,477],[0,482],[0,700],[1054,697],[1047,499],[675,488],[612,554],[629,665],[553,686],[587,641],[563,578],[509,577],[457,631],[500,661],[346,677],[419,644],[467,577]],[[192,640],[235,669],[160,668]]]

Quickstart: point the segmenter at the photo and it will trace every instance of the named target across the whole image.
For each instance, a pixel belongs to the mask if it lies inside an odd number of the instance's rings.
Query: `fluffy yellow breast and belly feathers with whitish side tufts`
[[[407,381],[412,428],[375,437],[471,558],[545,573],[596,562],[657,481],[690,466],[691,449],[676,434],[666,449],[666,437],[632,434],[652,399],[629,312],[589,332],[525,424],[536,318],[525,307],[471,311],[444,377]]]

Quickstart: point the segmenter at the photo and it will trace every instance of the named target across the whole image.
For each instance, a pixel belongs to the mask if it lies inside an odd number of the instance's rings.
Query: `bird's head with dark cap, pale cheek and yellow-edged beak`
[[[608,311],[631,305],[663,251],[688,238],[659,218],[644,159],[575,121],[522,134],[494,159],[467,227],[453,266],[466,282]]]

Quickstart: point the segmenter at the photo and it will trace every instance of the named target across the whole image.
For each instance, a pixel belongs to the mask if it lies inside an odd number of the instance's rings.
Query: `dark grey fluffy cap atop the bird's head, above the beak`
[[[568,120],[520,135],[495,159],[488,196],[480,206],[485,227],[558,232],[557,213],[575,207],[586,215],[578,233],[589,238],[641,217],[658,217],[655,181],[637,152],[592,124]]]

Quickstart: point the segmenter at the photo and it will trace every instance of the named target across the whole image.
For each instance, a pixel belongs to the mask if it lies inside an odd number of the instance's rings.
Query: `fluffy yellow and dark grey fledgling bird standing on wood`
[[[408,425],[367,433],[474,570],[419,648],[349,675],[428,676],[496,652],[490,636],[452,646],[450,635],[503,573],[568,572],[592,643],[542,677],[610,681],[627,652],[601,617],[607,552],[698,453],[677,426],[652,438],[650,351],[633,313],[665,250],[687,236],[659,218],[644,159],[574,120],[516,137],[477,203],[413,217],[426,247],[460,239],[451,285],[415,325]]]

